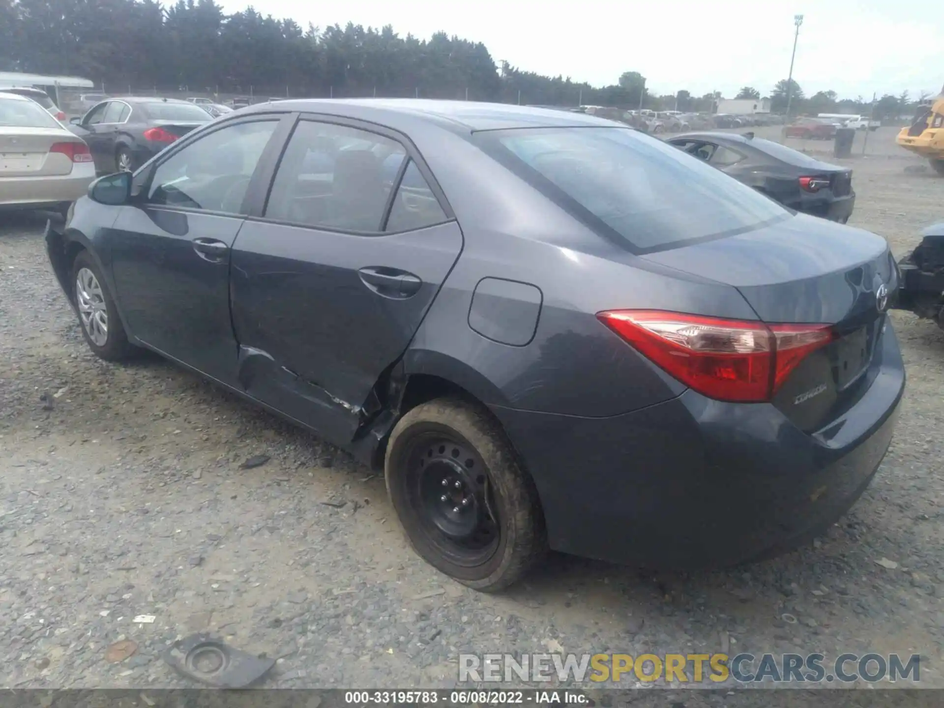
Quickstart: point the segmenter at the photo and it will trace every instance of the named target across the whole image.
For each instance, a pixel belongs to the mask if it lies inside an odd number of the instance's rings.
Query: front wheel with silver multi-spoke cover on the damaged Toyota
[[[121,362],[136,353],[127,341],[125,328],[101,271],[88,251],[76,256],[72,267],[73,295],[82,336],[95,356],[106,362]]]

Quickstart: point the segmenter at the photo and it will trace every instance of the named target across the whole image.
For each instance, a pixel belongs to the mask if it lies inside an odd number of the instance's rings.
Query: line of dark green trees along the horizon
[[[684,111],[714,110],[720,98],[649,93],[638,72],[595,87],[497,62],[482,42],[445,32],[425,40],[389,25],[302,27],[252,7],[228,14],[214,0],[0,0],[0,70],[85,76],[115,93],[420,96]],[[793,86],[791,113],[868,112],[861,96],[807,99]],[[784,79],[769,93],[774,110],[784,110],[786,90]],[[738,95],[761,97],[751,87]],[[879,104],[890,116],[906,99],[884,96]]]

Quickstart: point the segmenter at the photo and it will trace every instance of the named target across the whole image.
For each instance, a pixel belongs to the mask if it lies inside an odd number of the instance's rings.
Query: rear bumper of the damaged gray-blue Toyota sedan
[[[495,413],[535,480],[551,548],[652,568],[734,565],[827,528],[868,485],[904,389],[890,326],[882,339],[866,394],[813,435],[771,405],[690,390],[608,418]]]

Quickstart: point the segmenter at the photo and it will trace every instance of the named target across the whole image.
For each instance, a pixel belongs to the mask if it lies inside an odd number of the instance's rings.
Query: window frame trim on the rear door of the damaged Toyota
[[[374,133],[380,137],[386,138],[387,140],[392,140],[396,143],[399,143],[400,146],[404,149],[406,153],[406,160],[403,160],[403,163],[400,165],[396,177],[391,186],[391,194],[387,198],[387,203],[384,205],[384,211],[382,213],[379,227],[380,230],[377,231],[360,231],[351,228],[333,228],[328,226],[315,226],[312,224],[302,224],[295,221],[288,221],[285,219],[273,219],[265,216],[265,209],[269,203],[269,196],[272,194],[272,188],[275,185],[276,175],[278,173],[278,166],[281,164],[281,160],[285,155],[285,151],[288,149],[289,143],[292,140],[292,136],[295,134],[295,128],[302,121],[307,121],[309,123],[327,123],[334,126],[350,127],[355,130],[362,130],[367,133]],[[409,166],[410,161],[413,160],[416,163],[417,169],[419,169],[420,175],[426,180],[427,186],[430,188],[430,192],[436,198],[436,201],[439,202],[439,208],[443,210],[443,213],[446,215],[446,219],[435,224],[430,224],[421,228],[406,228],[398,231],[385,231],[382,228],[385,228],[387,222],[390,219],[390,211],[394,205],[394,199],[396,198],[396,193],[400,189],[400,184],[403,181],[403,176],[406,174],[406,168]],[[288,136],[286,137],[284,143],[282,143],[278,151],[278,160],[272,170],[271,175],[269,176],[268,186],[265,189],[264,198],[261,200],[261,204],[257,205],[258,211],[251,213],[246,216],[246,219],[249,221],[256,221],[263,224],[275,224],[283,227],[293,227],[293,228],[307,228],[312,231],[327,231],[329,233],[342,233],[350,236],[364,236],[364,237],[378,237],[378,236],[392,236],[397,233],[410,233],[412,231],[418,231],[422,228],[432,228],[442,226],[443,224],[448,224],[449,222],[456,220],[455,212],[452,211],[452,207],[449,205],[446,194],[443,192],[442,187],[440,187],[439,182],[436,181],[436,178],[432,175],[429,165],[426,163],[426,160],[423,159],[422,154],[419,149],[416,147],[415,143],[407,136],[405,133],[401,133],[398,130],[395,130],[389,126],[381,126],[379,123],[373,123],[370,121],[363,121],[357,118],[347,118],[346,116],[333,115],[330,113],[314,113],[311,111],[304,111],[295,113],[295,120],[289,131]]]

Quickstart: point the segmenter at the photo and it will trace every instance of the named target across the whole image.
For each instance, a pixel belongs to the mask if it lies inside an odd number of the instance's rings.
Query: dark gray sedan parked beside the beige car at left
[[[134,170],[212,116],[189,101],[174,98],[110,98],[69,129],[92,150],[99,173]]]

